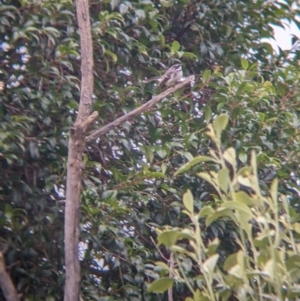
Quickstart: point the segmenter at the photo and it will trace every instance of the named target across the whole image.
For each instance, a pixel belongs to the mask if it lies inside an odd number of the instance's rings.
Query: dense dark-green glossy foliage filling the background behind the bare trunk
[[[24,300],[61,300],[63,216],[69,126],[79,100],[80,55],[69,0],[2,0],[0,6],[0,237]],[[298,211],[299,52],[276,55],[261,38],[271,24],[299,21],[294,1],[90,1],[94,47],[94,128],[159,92],[145,77],[181,61],[192,87],[89,144],[83,171],[81,241],[84,300],[167,300],[147,292],[159,277],[154,228],[184,226],[186,189],[197,208],[216,206],[215,188],[195,170],[174,172],[211,141],[207,123],[229,116],[223,147],[238,164],[257,152],[263,192],[279,191]],[[218,237],[226,259],[238,251],[233,223],[202,232]],[[186,267],[188,271],[188,267]],[[192,265],[190,266],[192,269]],[[190,292],[176,282],[174,300]]]

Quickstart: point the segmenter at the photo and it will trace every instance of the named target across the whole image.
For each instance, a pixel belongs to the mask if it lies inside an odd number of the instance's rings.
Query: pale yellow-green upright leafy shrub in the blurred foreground
[[[194,158],[176,173],[212,163],[214,168],[197,175],[214,187],[215,206],[195,210],[192,193],[183,195],[182,213],[189,223],[157,229],[158,246],[167,247],[171,256],[168,264],[156,263],[162,277],[148,291],[163,292],[185,283],[191,292],[186,301],[293,300],[300,295],[300,215],[278,193],[276,178],[268,193],[261,190],[254,151],[249,165],[238,168],[235,150],[222,150],[220,137],[227,123],[227,115],[221,115],[208,125],[214,145],[209,155]],[[220,239],[207,240],[203,231],[217,221],[236,229],[231,240],[237,251],[225,258],[218,252]]]

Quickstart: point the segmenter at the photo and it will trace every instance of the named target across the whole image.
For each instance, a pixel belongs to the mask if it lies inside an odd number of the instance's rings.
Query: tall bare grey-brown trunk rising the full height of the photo
[[[76,0],[76,10],[81,48],[81,94],[78,115],[70,129],[67,162],[64,301],[79,301],[80,299],[78,245],[82,155],[85,148],[86,130],[91,123],[89,115],[93,95],[93,45],[88,1]]]

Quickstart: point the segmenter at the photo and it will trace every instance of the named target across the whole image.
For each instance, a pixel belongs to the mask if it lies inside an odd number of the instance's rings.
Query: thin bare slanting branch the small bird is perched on
[[[163,98],[165,98],[169,94],[173,93],[174,91],[176,91],[176,90],[182,88],[183,86],[187,85],[188,83],[192,82],[193,80],[194,80],[194,75],[189,76],[184,81],[176,84],[175,86],[169,88],[168,90],[166,90],[166,91],[160,93],[159,95],[153,97],[151,100],[149,100],[145,104],[141,105],[137,109],[135,109],[135,110],[125,114],[124,116],[112,121],[111,123],[105,125],[101,129],[94,131],[92,134],[90,134],[88,137],[85,138],[85,141],[90,142],[90,141],[92,141],[92,140],[94,140],[94,139],[96,139],[100,136],[103,136],[104,134],[106,134],[110,130],[112,130],[112,129],[116,128],[117,126],[119,126],[120,124],[122,124],[123,122],[128,121],[128,120],[132,119],[133,117],[135,117],[137,115],[140,115],[141,113],[146,112],[147,110],[152,108],[157,102],[159,102],[160,100],[162,100]]]

